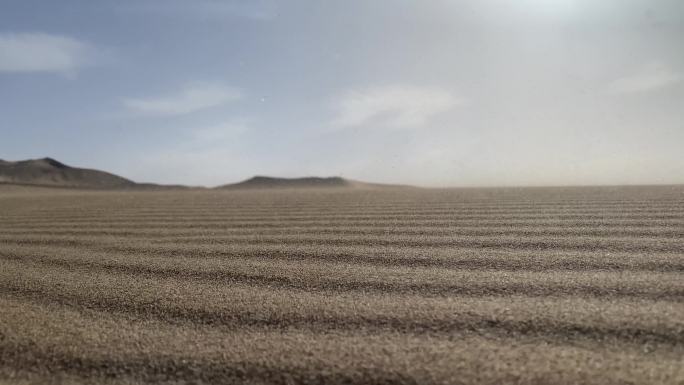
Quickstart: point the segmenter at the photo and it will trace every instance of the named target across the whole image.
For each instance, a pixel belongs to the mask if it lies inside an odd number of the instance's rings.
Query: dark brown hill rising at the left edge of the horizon
[[[131,188],[137,183],[104,171],[76,168],[52,158],[0,160],[0,183],[76,188]]]

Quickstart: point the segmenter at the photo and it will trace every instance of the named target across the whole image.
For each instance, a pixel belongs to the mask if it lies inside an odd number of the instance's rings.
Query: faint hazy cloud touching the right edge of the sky
[[[654,63],[641,72],[616,79],[611,83],[609,90],[615,94],[633,94],[669,87],[683,80],[682,73]]]

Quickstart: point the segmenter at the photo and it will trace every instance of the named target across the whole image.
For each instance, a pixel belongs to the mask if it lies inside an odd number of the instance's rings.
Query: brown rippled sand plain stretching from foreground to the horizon
[[[0,383],[683,384],[684,187],[0,187]]]

